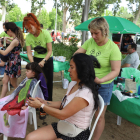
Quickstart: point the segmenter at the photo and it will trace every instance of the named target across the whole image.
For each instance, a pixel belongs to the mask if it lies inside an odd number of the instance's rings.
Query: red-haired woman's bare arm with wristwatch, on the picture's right
[[[45,60],[48,60],[52,54],[52,43],[49,42],[46,44],[47,47],[47,55],[45,56]],[[45,61],[42,60],[41,62],[39,62],[40,67],[44,67]]]

